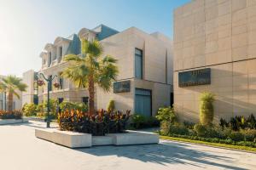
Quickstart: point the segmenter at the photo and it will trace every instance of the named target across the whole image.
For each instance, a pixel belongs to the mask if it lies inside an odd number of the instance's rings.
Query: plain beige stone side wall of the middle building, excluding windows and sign
[[[131,92],[113,94],[101,89],[96,91],[96,106],[106,109],[110,99],[115,101],[116,109],[134,111],[135,88],[152,90],[152,114],[160,106],[170,105],[172,91],[172,42],[169,38],[154,33],[149,35],[135,27],[102,40],[105,54],[118,59],[119,76],[117,81],[131,80]],[[134,72],[135,48],[143,49],[143,80],[138,80]]]

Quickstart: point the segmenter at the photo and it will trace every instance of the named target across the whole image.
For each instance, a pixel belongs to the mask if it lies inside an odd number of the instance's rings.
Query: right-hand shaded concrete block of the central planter
[[[114,145],[159,143],[159,135],[154,133],[128,131],[128,133],[108,133],[106,135],[113,138]]]

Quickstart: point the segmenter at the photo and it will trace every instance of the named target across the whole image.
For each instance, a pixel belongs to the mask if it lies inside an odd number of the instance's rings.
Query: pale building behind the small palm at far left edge
[[[0,80],[4,78],[5,76],[0,75]],[[13,99],[13,110],[20,110],[22,108],[22,93],[17,90],[17,94],[20,96],[20,99],[14,95]],[[6,93],[0,93],[0,110],[8,110],[8,94]]]

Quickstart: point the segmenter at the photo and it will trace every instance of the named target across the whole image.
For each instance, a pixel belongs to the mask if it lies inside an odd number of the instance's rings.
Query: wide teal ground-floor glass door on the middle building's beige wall
[[[151,90],[135,89],[135,113],[143,116],[151,116]]]

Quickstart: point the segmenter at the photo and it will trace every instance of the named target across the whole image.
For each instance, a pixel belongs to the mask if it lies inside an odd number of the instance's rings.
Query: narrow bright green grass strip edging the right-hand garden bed
[[[193,139],[183,139],[183,138],[170,137],[170,136],[160,136],[160,139],[176,140],[176,141],[181,141],[181,142],[189,142],[189,143],[193,143],[193,144],[206,144],[206,145],[210,145],[210,146],[223,147],[223,148],[227,148],[227,149],[247,150],[247,151],[252,151],[252,152],[256,153],[256,148],[251,148],[248,146],[212,143],[212,142],[205,142],[205,141],[193,140]]]

